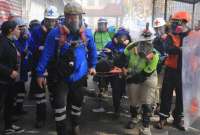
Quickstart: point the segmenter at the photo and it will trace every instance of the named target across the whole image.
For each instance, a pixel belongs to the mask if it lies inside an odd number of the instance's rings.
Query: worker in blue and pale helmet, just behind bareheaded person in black
[[[28,71],[30,70],[29,58],[31,57],[31,49],[33,49],[33,41],[28,31],[27,24],[22,18],[16,18],[14,21],[19,24],[20,37],[15,40],[15,46],[20,53],[20,79],[15,83],[17,91],[16,97],[16,115],[23,115],[27,112],[23,108],[26,95],[25,82],[28,81]]]

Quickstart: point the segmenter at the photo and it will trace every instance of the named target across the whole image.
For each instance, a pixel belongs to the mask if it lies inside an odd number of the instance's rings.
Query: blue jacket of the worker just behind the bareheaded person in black
[[[15,40],[14,43],[21,55],[20,79],[21,79],[21,81],[27,81],[28,80],[28,71],[30,70],[29,62],[32,58],[33,40],[29,33],[28,39],[23,39],[22,37],[20,37],[18,40]]]

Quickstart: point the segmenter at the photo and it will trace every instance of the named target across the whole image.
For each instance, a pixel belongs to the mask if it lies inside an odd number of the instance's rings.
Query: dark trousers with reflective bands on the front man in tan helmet
[[[84,96],[83,86],[84,83],[77,85],[73,83],[67,84],[64,81],[59,81],[54,86],[51,85],[50,91],[53,95],[53,108],[58,135],[67,135],[66,114],[69,115],[72,128],[80,125]]]

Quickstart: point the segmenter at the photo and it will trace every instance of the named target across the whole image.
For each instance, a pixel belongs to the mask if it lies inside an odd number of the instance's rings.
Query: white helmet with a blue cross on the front
[[[47,19],[57,19],[58,18],[58,11],[55,6],[49,6],[44,11],[44,18]]]

